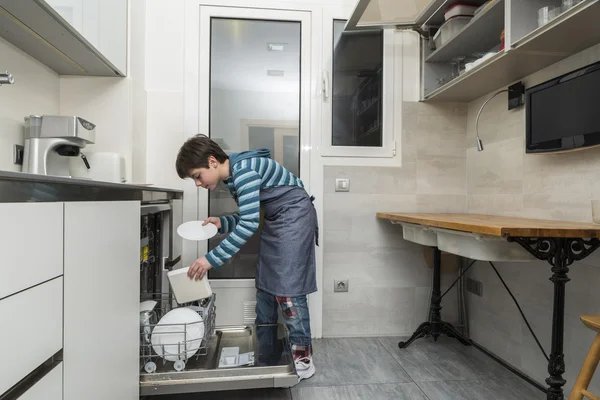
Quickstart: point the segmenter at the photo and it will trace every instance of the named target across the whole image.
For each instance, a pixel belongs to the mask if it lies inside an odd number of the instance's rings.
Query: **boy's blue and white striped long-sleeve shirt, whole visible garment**
[[[220,267],[239,252],[258,229],[261,189],[304,187],[300,178],[269,157],[266,149],[230,156],[231,176],[226,183],[239,206],[239,212],[220,217],[220,233],[230,232],[230,235],[206,255],[213,267]]]

